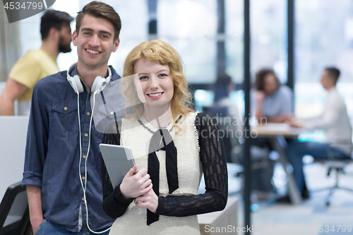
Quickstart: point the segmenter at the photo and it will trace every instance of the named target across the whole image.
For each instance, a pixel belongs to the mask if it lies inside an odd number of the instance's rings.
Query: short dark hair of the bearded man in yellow
[[[64,11],[47,10],[40,21],[40,34],[42,40],[46,40],[49,36],[49,30],[54,27],[61,30],[64,24],[70,25],[73,18]]]

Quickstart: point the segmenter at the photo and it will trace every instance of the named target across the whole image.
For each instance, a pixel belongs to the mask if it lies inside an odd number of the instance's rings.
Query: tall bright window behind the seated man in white
[[[296,0],[296,114],[319,114],[326,92],[319,80],[326,66],[340,69],[337,90],[353,118],[353,2]]]

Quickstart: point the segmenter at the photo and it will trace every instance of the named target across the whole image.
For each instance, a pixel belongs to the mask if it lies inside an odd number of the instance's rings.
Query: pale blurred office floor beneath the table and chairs
[[[241,197],[240,180],[232,177],[239,168],[236,165],[229,165],[228,168],[230,196]],[[327,168],[319,163],[306,164],[304,171],[311,193],[309,200],[304,200],[301,205],[275,203],[272,199],[273,195],[265,198],[263,194],[252,193],[251,224],[253,227],[249,230],[251,234],[353,234],[353,193],[338,190],[333,194],[330,205],[326,206],[328,191],[315,193],[313,191],[332,186],[335,182],[335,174],[328,177]],[[285,174],[279,165],[275,166],[273,179],[280,191],[283,191]],[[349,164],[345,174],[340,175],[340,186],[353,189],[353,164]],[[244,206],[242,200],[240,201],[238,229],[244,231]]]

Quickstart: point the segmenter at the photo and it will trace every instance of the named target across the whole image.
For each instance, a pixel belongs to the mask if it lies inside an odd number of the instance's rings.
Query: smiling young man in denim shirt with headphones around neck
[[[114,8],[97,1],[86,5],[72,35],[77,65],[40,80],[33,90],[22,185],[36,235],[91,234],[114,221],[102,207],[103,134],[91,120],[90,97],[120,78],[107,65],[120,29]]]

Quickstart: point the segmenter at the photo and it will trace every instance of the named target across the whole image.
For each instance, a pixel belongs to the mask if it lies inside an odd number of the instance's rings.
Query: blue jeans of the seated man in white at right
[[[293,167],[293,175],[295,181],[297,181],[298,188],[301,193],[304,193],[304,171],[303,171],[303,161],[304,155],[311,155],[316,159],[349,159],[350,156],[345,155],[345,153],[337,150],[334,147],[330,147],[327,143],[289,143],[288,145],[288,160]]]

